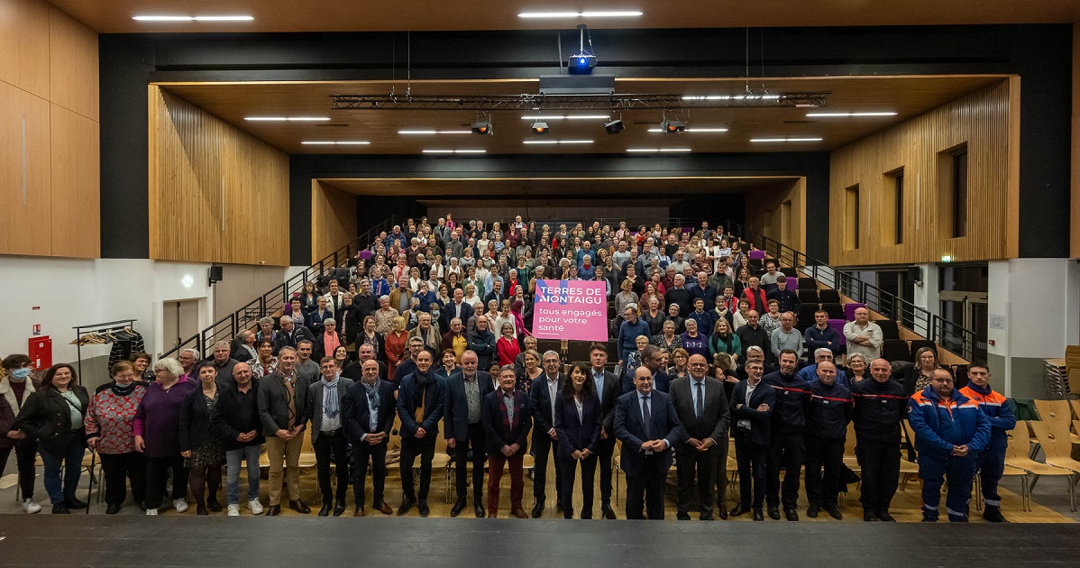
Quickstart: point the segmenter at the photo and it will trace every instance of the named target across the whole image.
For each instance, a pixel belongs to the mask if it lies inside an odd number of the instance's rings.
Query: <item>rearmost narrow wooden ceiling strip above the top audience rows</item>
[[[357,195],[595,197],[744,193],[789,186],[796,177],[677,177],[554,179],[320,179]],[[676,199],[677,201],[677,199]],[[650,201],[651,203],[651,201]]]

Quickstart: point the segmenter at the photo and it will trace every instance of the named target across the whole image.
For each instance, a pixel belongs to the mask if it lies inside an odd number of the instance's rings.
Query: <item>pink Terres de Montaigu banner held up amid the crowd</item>
[[[540,339],[607,341],[607,286],[591,280],[539,280],[532,335]]]

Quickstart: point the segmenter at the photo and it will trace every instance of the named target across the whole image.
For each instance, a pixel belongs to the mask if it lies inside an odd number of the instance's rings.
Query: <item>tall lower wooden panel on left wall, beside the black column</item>
[[[80,258],[102,255],[102,176],[98,124],[52,105],[52,254]],[[122,222],[118,219],[118,222]]]

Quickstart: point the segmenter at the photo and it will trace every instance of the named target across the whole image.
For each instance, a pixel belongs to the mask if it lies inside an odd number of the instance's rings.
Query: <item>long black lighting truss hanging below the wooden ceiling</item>
[[[626,94],[626,95],[330,95],[333,110],[589,110],[608,111],[663,109],[681,110],[698,108],[810,108],[823,107],[829,92],[772,93],[768,97],[715,97],[681,94]]]

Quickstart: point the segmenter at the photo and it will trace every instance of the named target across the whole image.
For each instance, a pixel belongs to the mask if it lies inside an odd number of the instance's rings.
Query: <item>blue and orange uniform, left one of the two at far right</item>
[[[978,455],[990,441],[990,421],[978,403],[956,389],[946,403],[933,387],[917,392],[908,403],[908,422],[915,432],[922,478],[922,517],[937,520],[942,484],[948,478],[945,510],[949,520],[968,520],[971,482]],[[955,446],[968,446],[967,456],[954,456]]]

